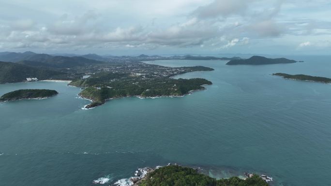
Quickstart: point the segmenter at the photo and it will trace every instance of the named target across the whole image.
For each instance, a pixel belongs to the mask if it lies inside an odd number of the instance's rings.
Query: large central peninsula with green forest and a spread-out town
[[[86,79],[76,79],[70,86],[83,87],[79,96],[92,100],[85,108],[93,108],[105,103],[106,100],[136,96],[139,98],[179,97],[195,90],[203,90],[203,85],[211,82],[202,78],[174,79],[174,75],[212,71],[208,67],[163,67],[146,63],[136,64],[133,70],[100,72]]]

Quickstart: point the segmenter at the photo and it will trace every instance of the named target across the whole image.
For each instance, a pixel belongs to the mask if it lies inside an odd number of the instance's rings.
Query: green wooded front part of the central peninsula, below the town
[[[120,79],[115,80],[114,79]],[[71,82],[72,86],[88,86],[80,96],[93,100],[87,108],[103,104],[105,100],[128,96],[161,97],[182,96],[191,90],[202,90],[202,85],[211,85],[206,79],[143,79],[131,74],[102,73],[96,77]]]

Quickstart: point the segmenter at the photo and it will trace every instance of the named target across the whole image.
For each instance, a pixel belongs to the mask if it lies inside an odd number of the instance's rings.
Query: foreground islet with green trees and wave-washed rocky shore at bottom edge
[[[216,180],[199,173],[198,169],[168,164],[154,169],[148,167],[138,169],[135,177],[129,179],[128,186],[269,186],[268,182],[272,181],[272,178],[266,175],[254,173],[245,173],[245,175],[247,176],[245,179],[231,177]],[[103,179],[99,179],[92,183],[100,184],[102,181]],[[120,181],[115,182],[114,185],[123,186]]]

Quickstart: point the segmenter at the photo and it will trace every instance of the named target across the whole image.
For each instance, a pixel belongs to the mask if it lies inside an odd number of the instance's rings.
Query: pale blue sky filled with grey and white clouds
[[[0,0],[0,4],[0,51],[331,54],[331,0]]]

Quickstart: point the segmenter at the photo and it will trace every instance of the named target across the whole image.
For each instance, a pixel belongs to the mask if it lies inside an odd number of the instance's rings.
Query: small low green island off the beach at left
[[[2,95],[0,101],[45,99],[57,94],[57,91],[48,89],[20,89]]]

